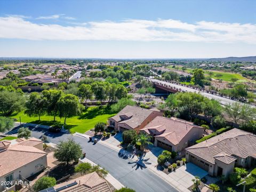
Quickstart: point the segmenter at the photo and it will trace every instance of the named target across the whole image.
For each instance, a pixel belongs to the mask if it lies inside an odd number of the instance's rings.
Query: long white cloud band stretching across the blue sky
[[[63,14],[40,17],[58,19]],[[63,17],[65,18],[65,17]],[[66,19],[68,19],[66,17]],[[69,18],[73,20],[75,18]],[[22,17],[0,17],[0,38],[32,40],[180,41],[256,44],[256,25],[172,19],[73,23],[71,26],[38,24]]]

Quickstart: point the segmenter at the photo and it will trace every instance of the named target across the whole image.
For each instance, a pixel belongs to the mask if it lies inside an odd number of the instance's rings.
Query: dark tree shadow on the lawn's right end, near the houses
[[[78,117],[78,119],[93,119],[99,115],[113,114],[110,106],[98,106],[94,108],[85,109],[85,113]]]

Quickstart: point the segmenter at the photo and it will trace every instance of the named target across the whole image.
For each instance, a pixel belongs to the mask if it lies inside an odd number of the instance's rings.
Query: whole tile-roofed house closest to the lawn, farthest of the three
[[[135,106],[126,106],[116,116],[108,119],[108,126],[115,130],[135,130],[139,132],[156,116],[163,116],[163,113],[157,109],[144,109]]]

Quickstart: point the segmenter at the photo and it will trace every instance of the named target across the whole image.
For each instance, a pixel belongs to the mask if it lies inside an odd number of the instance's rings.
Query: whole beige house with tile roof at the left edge
[[[0,141],[0,191],[46,168],[46,156],[43,142],[36,138]]]

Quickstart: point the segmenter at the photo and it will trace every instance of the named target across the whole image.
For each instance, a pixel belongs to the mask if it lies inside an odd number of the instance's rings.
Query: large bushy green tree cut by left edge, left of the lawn
[[[0,112],[9,117],[12,113],[22,111],[25,98],[17,92],[0,91]]]

